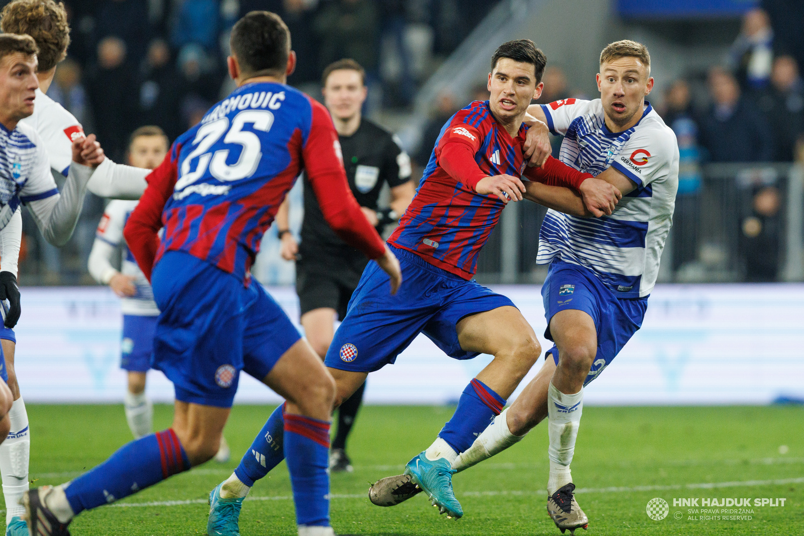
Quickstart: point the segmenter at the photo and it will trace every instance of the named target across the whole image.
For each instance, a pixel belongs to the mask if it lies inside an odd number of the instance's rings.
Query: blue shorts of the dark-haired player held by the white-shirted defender
[[[458,320],[497,307],[514,307],[514,303],[405,249],[391,249],[402,267],[402,287],[392,296],[388,275],[376,262],[369,262],[324,365],[355,372],[382,369],[396,361],[419,333],[449,357],[476,357],[477,352],[461,349],[455,329]]]

